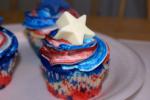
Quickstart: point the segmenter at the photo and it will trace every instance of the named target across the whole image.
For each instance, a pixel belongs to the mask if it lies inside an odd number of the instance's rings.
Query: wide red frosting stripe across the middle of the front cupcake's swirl
[[[72,51],[56,51],[53,48],[42,47],[40,52],[51,64],[75,64],[89,58],[96,46]]]

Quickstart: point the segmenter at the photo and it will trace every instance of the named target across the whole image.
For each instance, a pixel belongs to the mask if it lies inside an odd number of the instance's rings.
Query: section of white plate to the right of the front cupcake
[[[145,65],[140,56],[125,45],[104,35],[100,37],[110,44],[111,64],[109,76],[97,99],[125,100],[143,86]]]

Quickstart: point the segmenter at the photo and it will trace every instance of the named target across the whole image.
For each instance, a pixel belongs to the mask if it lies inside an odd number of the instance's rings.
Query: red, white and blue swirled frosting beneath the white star
[[[47,36],[40,50],[51,67],[59,65],[64,70],[88,72],[101,65],[108,55],[106,43],[97,36],[84,39],[83,45],[72,45],[66,40],[54,39],[54,36],[53,32]]]

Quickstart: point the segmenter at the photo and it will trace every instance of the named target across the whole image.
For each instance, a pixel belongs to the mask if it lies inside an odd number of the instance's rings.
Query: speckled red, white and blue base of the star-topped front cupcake
[[[46,64],[45,66],[49,63],[44,58],[42,62]],[[65,71],[60,66],[47,70],[45,66],[42,67],[42,71],[49,92],[55,97],[67,100],[82,97],[88,99],[98,95],[108,72],[108,69],[105,69],[108,63],[101,64],[90,72],[82,72],[77,69]]]

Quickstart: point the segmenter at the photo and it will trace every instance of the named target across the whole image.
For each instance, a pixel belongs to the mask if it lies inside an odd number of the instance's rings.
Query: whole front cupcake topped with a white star
[[[65,100],[88,100],[99,95],[108,73],[108,45],[86,25],[86,16],[69,12],[58,19],[58,29],[43,40],[42,72],[49,92]]]

